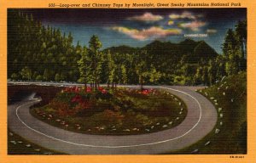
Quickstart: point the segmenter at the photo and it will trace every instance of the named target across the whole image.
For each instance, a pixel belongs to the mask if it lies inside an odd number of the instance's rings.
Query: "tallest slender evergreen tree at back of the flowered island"
[[[102,48],[102,42],[100,42],[99,38],[95,35],[90,37],[89,42],[89,56],[92,64],[92,79],[95,89],[99,84],[99,76],[101,73],[101,64],[102,64],[102,52],[100,52],[100,48]]]

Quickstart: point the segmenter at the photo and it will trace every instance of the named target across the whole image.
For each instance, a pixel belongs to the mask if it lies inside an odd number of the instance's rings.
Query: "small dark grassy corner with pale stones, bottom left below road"
[[[67,155],[51,149],[45,149],[8,130],[8,155]]]

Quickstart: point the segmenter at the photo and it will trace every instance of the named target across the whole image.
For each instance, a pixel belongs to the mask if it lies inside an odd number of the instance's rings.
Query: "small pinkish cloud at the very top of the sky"
[[[155,22],[163,19],[164,19],[163,16],[155,15],[151,13],[145,13],[140,16],[132,16],[130,18],[127,18],[127,20],[136,20],[136,21],[144,21],[144,22]]]

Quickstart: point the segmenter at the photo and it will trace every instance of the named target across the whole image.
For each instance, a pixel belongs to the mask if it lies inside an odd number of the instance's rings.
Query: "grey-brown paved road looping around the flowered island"
[[[159,87],[177,95],[188,106],[184,121],[171,129],[143,135],[87,135],[50,126],[29,114],[37,100],[8,106],[8,126],[21,137],[48,149],[71,155],[148,155],[183,149],[214,128],[218,115],[212,103],[191,87]]]

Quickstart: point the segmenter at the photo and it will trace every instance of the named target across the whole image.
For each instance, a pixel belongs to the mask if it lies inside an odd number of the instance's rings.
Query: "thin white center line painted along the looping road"
[[[190,95],[189,93],[185,93],[183,91],[179,91],[177,89],[173,89],[173,88],[170,88],[170,87],[155,87],[155,88],[163,88],[163,89],[168,89],[168,90],[172,90],[172,91],[176,91],[176,92],[179,92],[179,93],[184,93],[186,95],[188,95],[190,98],[193,98],[195,100],[195,102],[198,104],[199,106],[199,109],[200,109],[200,117],[198,119],[198,121],[195,123],[195,126],[197,126],[199,124],[199,122],[201,121],[201,104],[199,103],[199,101],[193,97],[192,95]],[[36,101],[40,101],[40,100],[36,100]],[[34,103],[35,101],[32,101],[32,102],[29,102],[29,103],[26,103],[26,104],[32,104]],[[177,138],[171,138],[171,139],[166,139],[166,140],[163,140],[163,141],[159,141],[159,142],[154,142],[154,143],[141,143],[141,144],[133,144],[133,145],[120,145],[120,146],[101,146],[101,145],[90,145],[90,144],[83,144],[83,143],[73,143],[73,142],[69,142],[69,141],[66,141],[66,140],[62,140],[60,138],[54,138],[52,136],[49,136],[43,132],[39,132],[38,130],[32,128],[31,126],[28,126],[24,121],[22,121],[20,119],[20,116],[18,114],[18,111],[20,109],[20,107],[26,105],[26,104],[21,104],[20,106],[18,106],[16,108],[16,116],[18,117],[19,121],[25,125],[27,128],[29,128],[30,130],[32,130],[33,132],[38,132],[39,134],[41,135],[44,135],[45,137],[47,138],[52,138],[54,140],[57,140],[57,141],[60,141],[60,142],[63,142],[63,143],[70,143],[70,144],[73,144],[73,145],[77,145],[77,146],[84,146],[84,147],[92,147],[92,148],[104,148],[104,149],[118,149],[118,148],[131,148],[131,147],[139,147],[139,146],[147,146],[147,145],[154,145],[154,144],[158,144],[158,143],[166,143],[166,142],[170,142],[172,140],[176,140],[178,138],[183,138],[185,135],[189,134],[189,132],[191,132],[195,126],[193,126],[192,128],[189,129],[188,132],[185,132],[183,133],[183,135],[181,136],[178,136]]]

